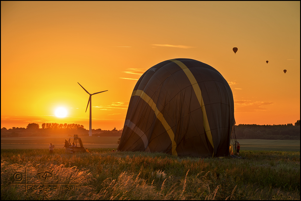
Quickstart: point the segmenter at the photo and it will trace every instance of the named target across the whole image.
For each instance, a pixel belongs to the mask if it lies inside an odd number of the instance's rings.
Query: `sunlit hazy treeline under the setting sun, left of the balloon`
[[[77,134],[79,136],[89,136],[89,130],[85,129],[83,125],[79,124],[57,124],[57,123],[43,123],[42,128],[39,124],[30,123],[26,128],[1,128],[1,137],[49,137],[53,135],[72,136]],[[122,130],[102,130],[92,129],[92,136],[121,136]]]

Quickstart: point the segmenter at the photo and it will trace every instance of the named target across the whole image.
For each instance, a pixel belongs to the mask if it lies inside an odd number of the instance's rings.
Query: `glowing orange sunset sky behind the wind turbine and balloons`
[[[173,58],[224,76],[236,125],[300,119],[300,1],[1,1],[1,128],[89,129],[79,82],[108,90],[92,96],[92,128],[120,130],[141,74]]]

